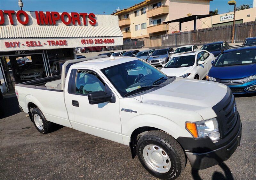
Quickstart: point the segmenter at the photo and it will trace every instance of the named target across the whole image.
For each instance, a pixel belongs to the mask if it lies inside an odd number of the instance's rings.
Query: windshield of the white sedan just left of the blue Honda
[[[164,68],[188,67],[195,64],[195,55],[173,57]]]

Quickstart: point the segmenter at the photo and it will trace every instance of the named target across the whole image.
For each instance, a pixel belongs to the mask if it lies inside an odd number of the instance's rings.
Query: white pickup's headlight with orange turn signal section
[[[194,138],[209,137],[212,141],[220,139],[219,126],[216,118],[198,122],[186,122],[186,129]]]

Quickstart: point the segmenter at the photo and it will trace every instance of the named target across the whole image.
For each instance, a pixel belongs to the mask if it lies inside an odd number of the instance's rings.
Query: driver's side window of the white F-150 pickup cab
[[[76,94],[105,91],[105,83],[93,71],[78,70],[76,74]]]

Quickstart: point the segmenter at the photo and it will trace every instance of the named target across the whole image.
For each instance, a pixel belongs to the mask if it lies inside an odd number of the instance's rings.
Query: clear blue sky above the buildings
[[[92,12],[94,14],[111,14],[118,7],[128,8],[143,0],[22,0],[24,11],[57,11],[57,12]],[[193,0],[191,0],[193,1]],[[213,0],[210,10],[219,10],[219,14],[233,11],[234,6],[228,0]],[[236,0],[237,6],[252,4],[253,0]],[[0,10],[20,10],[18,0],[0,0]]]

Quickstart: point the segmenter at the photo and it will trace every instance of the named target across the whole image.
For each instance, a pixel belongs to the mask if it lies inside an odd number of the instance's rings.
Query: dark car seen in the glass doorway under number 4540
[[[45,77],[43,64],[33,64],[20,73],[20,80],[33,80]]]

